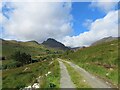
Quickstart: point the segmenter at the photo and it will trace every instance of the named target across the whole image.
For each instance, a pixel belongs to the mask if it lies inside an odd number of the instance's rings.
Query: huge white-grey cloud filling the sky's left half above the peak
[[[72,31],[71,3],[12,2],[11,8],[14,10],[3,25],[6,38],[42,42]]]

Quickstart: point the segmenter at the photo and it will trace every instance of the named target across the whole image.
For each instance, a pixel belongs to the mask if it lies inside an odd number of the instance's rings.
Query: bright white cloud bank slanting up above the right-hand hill
[[[71,47],[88,46],[108,36],[118,36],[118,11],[109,12],[104,18],[92,22],[89,31],[78,36],[66,36],[62,42]]]

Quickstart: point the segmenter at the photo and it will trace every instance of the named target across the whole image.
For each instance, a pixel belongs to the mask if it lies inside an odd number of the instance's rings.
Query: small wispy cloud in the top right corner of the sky
[[[97,0],[97,1],[94,1],[91,2],[90,4],[90,7],[94,8],[98,8],[100,9],[101,11],[105,12],[105,13],[108,13],[109,11],[111,10],[115,10],[115,7],[117,5],[117,1],[115,0]]]

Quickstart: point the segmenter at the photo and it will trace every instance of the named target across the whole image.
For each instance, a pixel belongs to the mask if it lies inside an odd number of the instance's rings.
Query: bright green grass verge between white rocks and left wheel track
[[[60,88],[60,67],[57,60],[48,66],[48,76],[45,76],[41,88]]]

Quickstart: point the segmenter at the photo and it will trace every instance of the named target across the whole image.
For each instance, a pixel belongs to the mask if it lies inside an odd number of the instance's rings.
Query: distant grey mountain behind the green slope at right
[[[118,37],[112,37],[112,36],[110,36],[110,37],[105,37],[105,38],[103,38],[103,39],[100,39],[100,40],[92,43],[91,46],[98,45],[98,44],[102,44],[102,43],[105,43],[105,42],[110,42],[110,41],[117,40],[117,39],[118,39]]]

